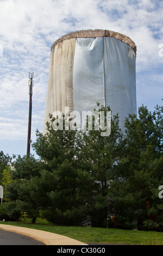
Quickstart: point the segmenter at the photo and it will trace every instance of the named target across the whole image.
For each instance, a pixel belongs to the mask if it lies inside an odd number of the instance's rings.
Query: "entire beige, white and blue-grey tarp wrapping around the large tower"
[[[131,46],[110,36],[59,41],[51,52],[45,123],[54,111],[93,111],[99,102],[119,113],[123,129],[128,114],[136,114],[135,58]]]

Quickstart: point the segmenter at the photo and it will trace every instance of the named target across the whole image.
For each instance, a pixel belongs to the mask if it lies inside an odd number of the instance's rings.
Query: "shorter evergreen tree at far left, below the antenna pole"
[[[11,182],[6,187],[5,197],[9,199],[7,212],[12,217],[15,212],[27,212],[35,222],[39,215],[40,200],[37,194],[38,179],[42,163],[34,156],[18,156],[13,162]]]

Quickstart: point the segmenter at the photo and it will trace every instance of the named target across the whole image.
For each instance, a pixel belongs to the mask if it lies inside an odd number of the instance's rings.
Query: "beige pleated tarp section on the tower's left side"
[[[51,51],[43,134],[46,133],[49,114],[55,111],[64,113],[65,106],[73,111],[72,76],[75,45],[76,39],[73,38],[60,42]]]

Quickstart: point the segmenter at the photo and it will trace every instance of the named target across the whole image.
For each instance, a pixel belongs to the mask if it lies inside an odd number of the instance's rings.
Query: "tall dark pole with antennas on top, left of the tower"
[[[32,123],[32,89],[33,89],[33,77],[34,72],[29,72],[29,118],[28,118],[28,139],[27,139],[27,156],[30,154],[30,134],[31,134],[31,123]]]

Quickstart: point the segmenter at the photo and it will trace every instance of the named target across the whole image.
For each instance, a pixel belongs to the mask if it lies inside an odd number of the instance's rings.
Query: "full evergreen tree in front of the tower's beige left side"
[[[66,130],[65,126],[62,130],[54,130],[55,120],[52,118],[51,123],[47,123],[46,135],[37,131],[33,144],[43,162],[39,182],[46,206],[42,216],[55,223],[78,224],[87,212],[91,176],[77,166],[76,131]]]

